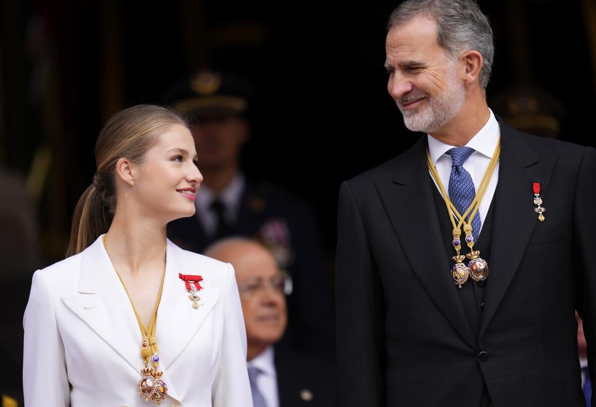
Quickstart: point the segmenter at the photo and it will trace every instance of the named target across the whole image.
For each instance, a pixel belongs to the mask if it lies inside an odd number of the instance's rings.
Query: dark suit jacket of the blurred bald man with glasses
[[[276,347],[275,371],[280,407],[338,405],[335,366],[327,360]]]

